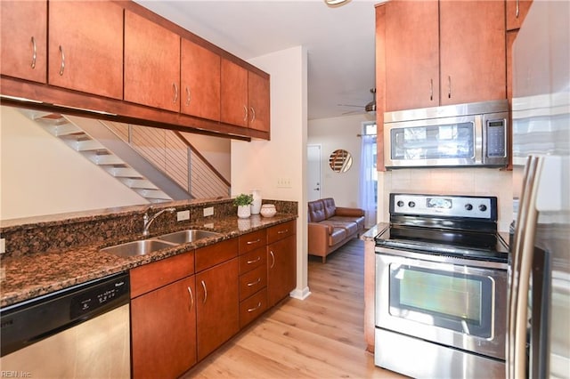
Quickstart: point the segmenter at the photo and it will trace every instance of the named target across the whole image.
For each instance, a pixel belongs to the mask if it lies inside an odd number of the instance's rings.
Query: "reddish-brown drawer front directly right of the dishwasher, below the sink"
[[[136,267],[130,271],[131,299],[194,273],[194,251]]]

